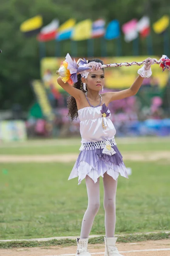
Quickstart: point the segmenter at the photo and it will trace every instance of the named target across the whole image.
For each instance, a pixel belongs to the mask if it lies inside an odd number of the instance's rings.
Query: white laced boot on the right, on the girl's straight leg
[[[105,239],[105,255],[104,256],[123,256],[115,246],[117,237],[104,237]]]

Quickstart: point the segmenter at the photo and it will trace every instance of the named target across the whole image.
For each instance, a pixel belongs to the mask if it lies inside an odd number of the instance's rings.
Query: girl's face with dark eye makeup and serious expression
[[[98,71],[93,71],[88,74],[87,79],[85,79],[85,83],[87,87],[91,90],[99,91],[102,89],[104,85],[105,76],[102,69]]]

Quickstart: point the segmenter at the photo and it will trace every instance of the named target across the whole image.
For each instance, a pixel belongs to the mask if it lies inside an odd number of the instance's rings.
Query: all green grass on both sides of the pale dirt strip
[[[68,142],[68,145],[66,145]],[[119,144],[120,142],[120,144]],[[79,140],[47,140],[0,145],[3,154],[67,154],[79,152]],[[72,145],[74,143],[74,145]],[[169,151],[170,138],[116,140],[120,151]],[[129,179],[119,177],[116,233],[170,230],[170,161],[133,162]],[[0,163],[0,239],[79,236],[88,198],[85,180],[68,181],[71,163]],[[91,235],[105,235],[103,184],[101,207]]]

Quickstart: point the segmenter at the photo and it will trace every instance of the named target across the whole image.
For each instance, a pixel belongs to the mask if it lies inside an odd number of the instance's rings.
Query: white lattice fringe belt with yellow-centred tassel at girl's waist
[[[102,153],[113,155],[116,154],[116,151],[112,148],[112,146],[116,145],[116,142],[113,139],[111,140],[102,140],[102,141],[96,141],[96,142],[89,142],[89,143],[82,143],[81,147],[79,148],[80,151],[88,150],[88,149],[94,149],[94,148],[103,148]]]

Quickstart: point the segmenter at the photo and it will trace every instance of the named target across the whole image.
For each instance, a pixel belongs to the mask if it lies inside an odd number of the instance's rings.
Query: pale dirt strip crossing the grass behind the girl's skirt
[[[156,161],[170,160],[170,151],[154,151],[154,152],[121,152],[123,160],[130,161]],[[72,162],[76,161],[78,154],[53,154],[53,155],[1,155],[0,163],[48,163],[48,162]]]

